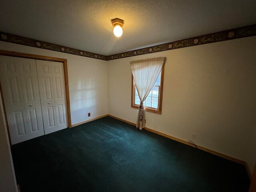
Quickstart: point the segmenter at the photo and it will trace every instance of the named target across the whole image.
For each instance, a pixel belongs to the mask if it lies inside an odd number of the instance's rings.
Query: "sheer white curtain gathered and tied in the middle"
[[[166,57],[150,58],[131,61],[132,75],[140,98],[140,109],[136,127],[145,128],[145,112],[143,102],[152,90],[158,75],[160,74]]]

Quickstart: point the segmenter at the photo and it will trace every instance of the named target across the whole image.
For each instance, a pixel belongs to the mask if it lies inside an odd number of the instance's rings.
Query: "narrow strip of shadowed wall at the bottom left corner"
[[[0,94],[0,191],[16,192],[16,178],[13,169],[12,155],[4,120],[2,98]]]

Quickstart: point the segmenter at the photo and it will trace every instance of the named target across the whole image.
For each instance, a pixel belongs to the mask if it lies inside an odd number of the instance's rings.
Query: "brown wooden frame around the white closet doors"
[[[54,62],[62,62],[63,63],[65,92],[66,92],[66,105],[67,105],[67,114],[68,114],[68,128],[71,128],[72,126],[71,126],[70,99],[69,99],[69,88],[68,88],[68,63],[67,63],[67,60],[62,59],[62,58],[56,58],[56,57],[48,57],[48,56],[20,53],[20,52],[14,52],[14,51],[6,51],[6,50],[0,50],[0,55],[20,57],[20,58],[28,58],[28,59],[54,61]],[[10,131],[9,131],[9,126],[8,126],[8,121],[7,121],[7,116],[6,116],[6,110],[5,110],[5,106],[4,106],[4,97],[3,97],[1,83],[0,83],[0,91],[1,91],[1,96],[2,96],[2,103],[3,103],[3,108],[4,108],[4,116],[5,116],[6,126],[7,126],[9,142],[10,142],[10,145],[12,145],[11,138],[10,138]]]

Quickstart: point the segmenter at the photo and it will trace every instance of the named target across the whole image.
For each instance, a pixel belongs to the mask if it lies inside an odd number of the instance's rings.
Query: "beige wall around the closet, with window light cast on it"
[[[8,42],[0,49],[67,59],[72,124],[108,113],[106,61]]]

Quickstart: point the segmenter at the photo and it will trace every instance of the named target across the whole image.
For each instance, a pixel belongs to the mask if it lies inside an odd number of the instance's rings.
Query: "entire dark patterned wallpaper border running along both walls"
[[[216,32],[212,34],[197,36],[197,37],[188,38],[184,40],[178,40],[178,41],[151,46],[147,48],[141,48],[141,49],[114,54],[110,56],[104,56],[96,53],[69,48],[66,46],[56,45],[56,44],[52,44],[44,41],[34,40],[34,39],[17,36],[9,33],[0,32],[0,34],[1,34],[1,37],[0,37],[1,41],[108,61],[108,60],[121,59],[126,57],[137,56],[137,55],[150,54],[150,53],[155,53],[160,51],[167,51],[167,50],[185,48],[190,46],[256,36],[256,24],[235,28],[231,30]]]

